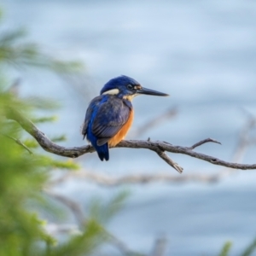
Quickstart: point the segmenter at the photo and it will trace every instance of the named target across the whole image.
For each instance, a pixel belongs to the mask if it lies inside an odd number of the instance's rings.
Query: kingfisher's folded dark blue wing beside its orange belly
[[[116,97],[108,96],[106,101],[98,104],[96,117],[92,124],[92,132],[98,137],[98,146],[107,143],[117,134],[129,119],[130,112],[131,108]]]

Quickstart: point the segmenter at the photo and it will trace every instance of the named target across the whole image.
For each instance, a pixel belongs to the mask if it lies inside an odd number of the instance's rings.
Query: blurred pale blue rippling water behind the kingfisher
[[[90,98],[108,79],[125,74],[168,98],[141,96],[133,104],[134,130],[176,107],[177,116],[139,137],[190,146],[212,137],[222,143],[196,150],[231,160],[247,113],[256,114],[256,3],[233,1],[40,1],[3,0],[6,28],[26,27],[29,38],[49,54],[86,65],[84,88],[73,90],[52,73],[12,71],[21,96],[47,96],[61,102],[59,121],[41,125],[47,135],[67,134],[63,145],[83,145],[80,125]],[[134,133],[135,134],[135,133]],[[254,132],[255,134],[255,132]],[[183,175],[220,172],[221,166],[171,155]],[[116,148],[110,161],[96,154],[79,158],[84,169],[109,176],[172,172],[153,152]],[[256,162],[255,147],[243,163]],[[232,255],[256,236],[256,172],[234,171],[218,183],[151,183],[125,186],[131,197],[108,229],[134,250],[150,253],[166,236],[166,255],[216,255],[224,241]],[[109,198],[124,187],[69,181],[58,188],[84,206],[92,196]],[[119,255],[118,252],[111,252]],[[256,254],[255,254],[256,255]]]

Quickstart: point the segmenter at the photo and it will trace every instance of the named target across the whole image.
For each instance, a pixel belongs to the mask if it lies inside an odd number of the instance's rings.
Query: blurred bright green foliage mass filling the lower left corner
[[[32,139],[25,144],[19,138],[24,131],[14,121],[6,119],[9,107],[22,110],[26,115],[32,106],[4,92],[0,84],[0,255],[91,255],[103,242],[109,240],[108,232],[94,217],[88,217],[77,235],[69,236],[62,242],[44,230],[44,221],[38,217],[38,205],[59,218],[56,209],[45,199],[42,190],[47,186],[49,173],[54,168],[79,169],[73,160],[55,160],[51,156],[40,155]],[[38,119],[42,121],[42,119]],[[46,120],[46,119],[43,119]],[[52,119],[47,119],[52,120]],[[17,139],[18,138],[18,139]],[[56,141],[64,137],[56,137]],[[28,154],[26,147],[35,148]],[[106,207],[107,215],[119,208],[123,195]],[[105,208],[98,205],[102,212]]]

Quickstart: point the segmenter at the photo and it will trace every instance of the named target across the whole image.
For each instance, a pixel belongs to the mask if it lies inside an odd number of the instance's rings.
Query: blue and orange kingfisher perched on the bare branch
[[[138,95],[168,96],[144,88],[135,79],[119,76],[111,79],[87,108],[82,134],[96,149],[101,160],[109,160],[108,147],[117,145],[131,128],[131,100]]]

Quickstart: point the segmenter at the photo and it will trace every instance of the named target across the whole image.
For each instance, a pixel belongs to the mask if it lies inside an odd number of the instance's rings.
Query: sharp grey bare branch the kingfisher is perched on
[[[53,154],[58,154],[61,156],[65,157],[71,157],[71,158],[77,158],[82,154],[87,154],[87,153],[92,153],[95,151],[95,149],[91,146],[82,146],[82,147],[72,147],[72,148],[65,148],[61,147],[49,140],[48,137],[44,135],[44,133],[32,123],[29,119],[26,119],[22,114],[17,112],[14,109],[10,109],[7,118],[9,119],[14,119],[17,121],[24,130],[26,130],[28,133],[34,137],[40,146],[44,148],[44,150],[53,153]],[[116,148],[147,148],[152,151],[154,151],[156,154],[160,156],[163,160],[165,160],[170,166],[174,167],[178,172],[182,171],[182,167],[177,166],[176,163],[174,163],[170,158],[166,157],[166,154],[163,154],[166,152],[171,152],[175,154],[187,154],[191,157],[200,159],[200,160],[205,160],[212,165],[217,165],[217,166],[225,166],[225,167],[230,167],[234,169],[241,169],[241,170],[252,170],[256,169],[256,164],[253,165],[242,165],[242,164],[237,164],[237,163],[232,163],[232,162],[227,162],[224,160],[219,160],[216,157],[213,157],[211,155],[207,154],[201,154],[195,152],[193,149],[195,147],[200,146],[203,143],[218,143],[215,140],[212,140],[210,138],[203,140],[199,143],[195,143],[192,147],[182,147],[182,146],[175,146],[170,143],[166,142],[159,142],[159,141],[138,141],[138,140],[130,140],[130,141],[122,141],[120,142]],[[192,148],[192,149],[191,149]]]

